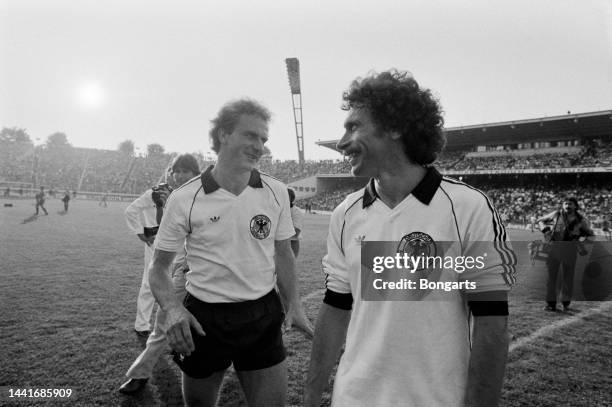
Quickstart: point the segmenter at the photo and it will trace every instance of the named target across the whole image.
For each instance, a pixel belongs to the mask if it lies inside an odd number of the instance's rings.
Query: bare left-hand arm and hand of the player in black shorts
[[[204,330],[174,294],[169,270],[175,255],[174,252],[155,250],[149,266],[149,285],[157,303],[167,314],[170,347],[178,353],[189,355],[195,349],[190,326],[200,335],[204,335]]]

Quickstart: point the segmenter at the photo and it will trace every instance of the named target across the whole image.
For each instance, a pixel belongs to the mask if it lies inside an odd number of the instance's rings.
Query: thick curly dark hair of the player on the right
[[[393,69],[357,78],[342,100],[343,110],[366,108],[384,131],[401,134],[404,152],[416,164],[433,163],[446,144],[439,102],[408,72]]]

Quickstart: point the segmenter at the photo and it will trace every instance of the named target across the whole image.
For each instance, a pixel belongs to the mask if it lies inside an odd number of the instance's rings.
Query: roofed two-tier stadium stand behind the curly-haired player
[[[612,111],[571,114],[445,129],[447,148],[436,166],[445,175],[485,191],[506,223],[555,208],[574,195],[594,226],[612,211]],[[336,149],[337,140],[317,144]],[[298,202],[332,210],[358,189],[337,186],[346,178],[321,178],[318,194]]]

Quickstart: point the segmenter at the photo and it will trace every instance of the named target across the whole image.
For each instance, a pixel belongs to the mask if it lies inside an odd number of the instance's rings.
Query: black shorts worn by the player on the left
[[[281,327],[285,319],[275,290],[252,301],[207,303],[189,293],[183,302],[206,336],[191,329],[195,351],[174,361],[194,379],[204,379],[227,369],[238,371],[265,369],[285,360]]]

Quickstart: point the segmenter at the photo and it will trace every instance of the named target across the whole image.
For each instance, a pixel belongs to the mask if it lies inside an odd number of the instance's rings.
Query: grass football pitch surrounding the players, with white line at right
[[[137,397],[116,391],[144,346],[133,332],[143,247],[123,220],[126,204],[111,202],[102,208],[77,200],[62,215],[61,202],[49,200],[49,216],[22,223],[34,213],[33,203],[12,203],[13,207],[0,208],[0,387],[75,391],[73,401],[52,405],[182,405],[179,370],[169,356],[160,360]],[[298,261],[300,292],[313,320],[323,292],[320,260],[328,220],[307,215]],[[512,231],[511,237],[529,240],[534,235]],[[502,405],[612,405],[609,305],[576,303],[573,315],[551,315],[542,311],[541,301],[527,299],[520,290],[514,293],[513,345]],[[290,332],[285,342],[290,361],[288,404],[299,405],[310,341]],[[11,404],[0,398],[0,405],[50,404]],[[231,372],[219,405],[244,405]]]

